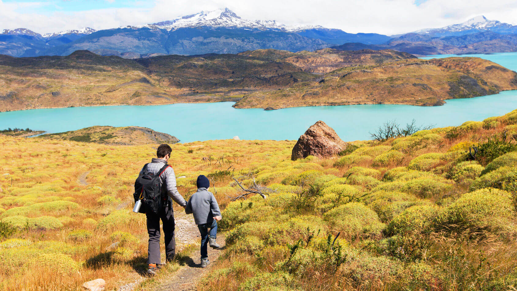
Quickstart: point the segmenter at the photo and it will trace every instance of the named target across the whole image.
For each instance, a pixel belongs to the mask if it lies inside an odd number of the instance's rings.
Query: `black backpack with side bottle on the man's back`
[[[165,164],[158,175],[154,175],[152,173],[146,173],[147,165],[144,166],[144,171],[142,175],[139,175],[134,181],[134,202],[138,200],[142,200],[142,206],[140,207],[139,213],[153,213],[158,215],[162,207],[165,205],[165,195],[161,192],[162,182],[160,180],[160,175],[169,167],[170,165]]]

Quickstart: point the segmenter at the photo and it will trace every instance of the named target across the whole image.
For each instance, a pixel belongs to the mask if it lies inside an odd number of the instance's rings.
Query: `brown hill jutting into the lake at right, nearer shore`
[[[405,59],[383,65],[344,67],[309,82],[244,96],[236,108],[279,109],[348,104],[442,105],[517,89],[517,73],[475,57]]]

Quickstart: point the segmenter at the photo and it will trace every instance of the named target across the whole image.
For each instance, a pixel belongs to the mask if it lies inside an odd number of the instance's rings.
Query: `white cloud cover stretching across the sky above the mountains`
[[[317,24],[350,33],[406,33],[460,23],[480,14],[517,24],[517,2],[514,0],[429,0],[419,6],[414,5],[414,0],[156,0],[139,4],[144,7],[43,13],[37,10],[41,2],[4,3],[0,0],[0,29],[25,27],[38,33],[83,26],[107,29],[169,20],[178,15],[222,7],[229,7],[242,18]]]

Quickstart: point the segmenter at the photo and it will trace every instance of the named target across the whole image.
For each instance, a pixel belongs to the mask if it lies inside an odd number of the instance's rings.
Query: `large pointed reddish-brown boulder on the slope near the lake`
[[[348,146],[339,135],[323,121],[317,121],[303,133],[293,147],[291,160],[315,156],[328,158],[339,154]]]

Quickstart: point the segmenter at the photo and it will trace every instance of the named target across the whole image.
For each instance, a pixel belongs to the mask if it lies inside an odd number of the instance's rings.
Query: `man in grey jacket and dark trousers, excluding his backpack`
[[[171,198],[180,206],[185,207],[187,203],[176,188],[176,176],[172,166],[164,166],[171,157],[172,148],[168,144],[161,144],[156,151],[156,157],[150,163],[144,165],[140,171],[142,175],[160,175],[162,207],[158,209],[158,214],[146,211],[147,233],[149,234],[149,248],[147,258],[147,273],[156,274],[160,260],[160,219],[163,223],[163,234],[165,236],[165,255],[166,262],[171,262],[175,255],[176,241],[174,239],[174,213],[172,210]],[[161,173],[160,173],[161,172]]]

